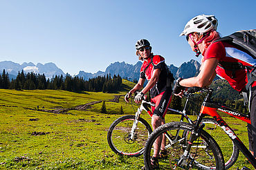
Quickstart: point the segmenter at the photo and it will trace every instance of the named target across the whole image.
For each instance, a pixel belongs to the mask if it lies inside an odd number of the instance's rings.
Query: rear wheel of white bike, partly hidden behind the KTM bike
[[[226,133],[223,131],[221,126],[219,126],[216,120],[212,118],[203,118],[202,123],[205,124],[203,129],[207,131],[212,138],[214,138],[221,148],[225,162],[225,169],[229,169],[233,164],[235,164],[239,156],[239,149],[237,145],[235,145],[229,137],[228,138],[230,140],[226,140]],[[225,141],[225,143],[223,143],[223,141]],[[230,147],[232,147],[232,151],[230,151]]]

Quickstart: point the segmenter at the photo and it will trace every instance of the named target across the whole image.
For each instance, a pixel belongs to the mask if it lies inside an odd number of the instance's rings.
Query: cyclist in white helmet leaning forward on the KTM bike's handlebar
[[[255,68],[256,61],[243,51],[221,41],[217,30],[218,21],[214,15],[199,15],[188,21],[180,36],[185,35],[196,57],[202,54],[199,75],[188,79],[179,78],[174,86],[174,95],[182,95],[185,87],[204,87],[212,83],[215,75],[226,79],[239,93],[245,91],[248,82],[247,68],[230,69],[238,65]],[[255,70],[255,69],[254,69]],[[251,124],[248,124],[249,150],[256,157],[256,82],[251,84],[249,110]],[[255,144],[253,144],[255,142]]]

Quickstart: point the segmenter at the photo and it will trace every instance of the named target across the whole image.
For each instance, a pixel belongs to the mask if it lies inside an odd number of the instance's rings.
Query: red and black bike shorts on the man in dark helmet
[[[165,91],[157,95],[156,97],[151,99],[151,102],[154,102],[156,106],[152,106],[153,115],[157,115],[161,117],[163,120],[165,119],[165,115],[167,113],[167,108],[172,101],[172,89],[167,88]]]

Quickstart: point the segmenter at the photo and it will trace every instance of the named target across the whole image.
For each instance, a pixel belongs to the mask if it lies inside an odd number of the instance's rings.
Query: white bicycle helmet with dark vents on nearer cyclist
[[[182,35],[189,35],[192,32],[208,32],[209,30],[212,30],[212,28],[217,30],[217,26],[218,20],[214,15],[199,15],[188,21],[183,32],[181,32],[180,37]]]

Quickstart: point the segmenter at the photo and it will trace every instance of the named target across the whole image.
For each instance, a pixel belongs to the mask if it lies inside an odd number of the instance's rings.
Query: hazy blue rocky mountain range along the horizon
[[[122,78],[126,78],[129,80],[138,80],[140,75],[140,67],[142,65],[142,62],[137,62],[135,65],[133,64],[126,64],[125,62],[115,62],[113,64],[110,64],[104,72],[98,71],[97,73],[86,73],[83,70],[80,70],[80,72],[76,75],[77,77],[83,77],[85,80],[98,77],[98,76],[104,76],[104,75],[120,75]],[[168,66],[174,75],[175,78],[183,77],[193,77],[194,75],[199,73],[200,64],[199,62],[195,61],[194,59],[190,60],[190,62],[184,62],[181,64],[181,66],[176,67],[173,64]],[[6,70],[6,73],[9,74],[10,79],[15,79],[17,77],[17,74],[21,72],[21,70],[24,70],[24,73],[30,73],[34,72],[37,74],[44,74],[46,75],[46,78],[52,78],[55,75],[66,75],[62,71],[62,69],[58,68],[53,63],[47,63],[47,64],[40,64],[37,65],[33,64],[32,62],[23,64],[17,64],[15,62],[5,61],[0,62],[0,71],[2,72],[3,69]]]

